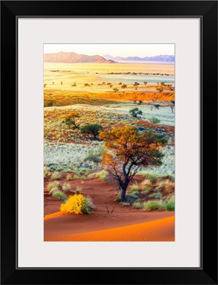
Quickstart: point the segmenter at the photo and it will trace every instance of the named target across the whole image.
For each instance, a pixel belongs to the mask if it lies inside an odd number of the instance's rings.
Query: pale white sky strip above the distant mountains
[[[174,44],[44,44],[44,53],[58,53],[60,51],[89,56],[157,56],[160,54],[175,55]]]

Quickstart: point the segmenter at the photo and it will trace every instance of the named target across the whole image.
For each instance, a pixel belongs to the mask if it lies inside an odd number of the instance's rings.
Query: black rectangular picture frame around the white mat
[[[70,14],[71,12],[73,14]],[[19,269],[17,260],[18,17],[199,17],[200,268]],[[10,105],[9,110],[6,106]],[[217,284],[217,1],[1,1],[1,284]],[[12,146],[9,147],[12,143]],[[10,161],[10,166],[6,166]],[[13,165],[13,170],[12,170]],[[13,182],[12,182],[13,177]],[[187,257],[188,258],[188,257]]]

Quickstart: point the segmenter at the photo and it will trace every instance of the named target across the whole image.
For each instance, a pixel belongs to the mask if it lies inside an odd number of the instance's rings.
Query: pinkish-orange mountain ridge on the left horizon
[[[45,53],[44,61],[48,63],[115,63],[111,59],[102,56],[87,56],[86,54],[65,53]]]

